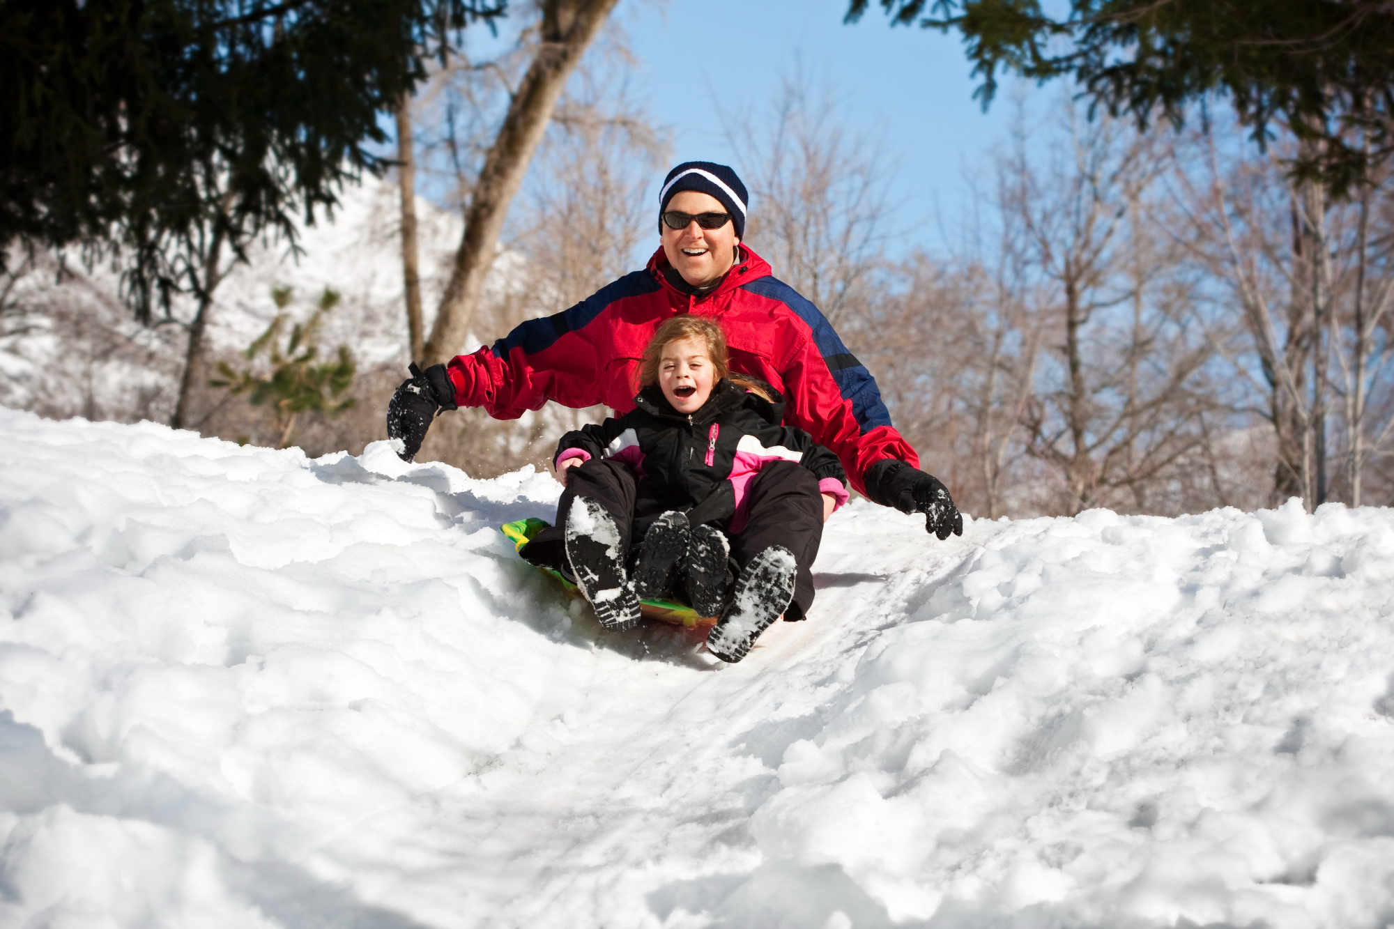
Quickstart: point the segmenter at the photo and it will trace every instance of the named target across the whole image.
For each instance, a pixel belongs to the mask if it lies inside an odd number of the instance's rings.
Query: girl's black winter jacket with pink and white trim
[[[848,477],[838,456],[803,430],[781,425],[783,396],[763,386],[774,400],[722,378],[687,416],[650,385],[634,398],[634,410],[563,435],[553,462],[609,458],[633,466],[640,474],[634,518],[644,522],[668,509],[689,511],[693,524],[726,520],[750,478],[779,460],[797,462],[822,492],[846,502]]]

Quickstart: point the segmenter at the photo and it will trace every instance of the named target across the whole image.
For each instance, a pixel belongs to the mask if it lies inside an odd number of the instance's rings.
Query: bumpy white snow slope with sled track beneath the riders
[[[835,515],[723,665],[558,485],[0,410],[0,925],[1381,926],[1394,515]]]

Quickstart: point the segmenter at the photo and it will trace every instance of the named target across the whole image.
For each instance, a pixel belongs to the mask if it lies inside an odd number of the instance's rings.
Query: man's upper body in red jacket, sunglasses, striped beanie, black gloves
[[[658,201],[662,246],[644,271],[403,384],[388,411],[388,434],[403,439],[399,453],[411,460],[435,414],[459,406],[482,406],[495,418],[519,417],[548,400],[626,413],[634,409],[640,358],[658,324],[693,312],[721,322],[730,368],[783,393],[785,423],[832,449],[853,487],[877,504],[924,513],[926,530],[941,540],[962,536],[963,518],[948,490],[919,470],[871,372],[817,307],[742,244],[749,197],[736,172],[684,162],[664,179]],[[825,495],[824,513],[831,508]]]

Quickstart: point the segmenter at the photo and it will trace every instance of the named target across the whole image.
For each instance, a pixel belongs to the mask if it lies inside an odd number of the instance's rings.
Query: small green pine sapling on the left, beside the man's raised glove
[[[326,314],[339,304],[339,292],[325,287],[315,312],[304,324],[293,324],[286,308],[293,293],[291,287],[272,287],[276,318],[243,352],[243,357],[254,364],[258,357],[268,356],[270,375],[258,375],[255,367],[236,371],[226,361],[220,361],[217,371],[222,377],[209,381],[210,386],[227,388],[230,393],[245,393],[254,406],[269,405],[276,414],[276,428],[280,434],[276,448],[290,445],[296,434],[296,420],[301,413],[336,416],[357,403],[351,396],[340,399],[357,374],[357,364],[348,346],[340,345],[337,357],[332,361],[319,360],[319,331],[323,328]],[[282,347],[287,325],[291,326],[290,339]]]

